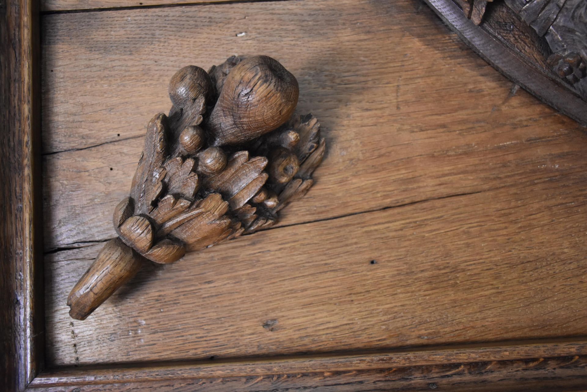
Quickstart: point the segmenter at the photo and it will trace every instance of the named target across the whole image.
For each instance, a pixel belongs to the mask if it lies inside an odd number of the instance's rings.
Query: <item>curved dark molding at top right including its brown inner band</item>
[[[425,0],[471,49],[543,102],[587,125],[587,103],[551,71],[546,41],[501,1],[487,6],[483,23],[467,18],[464,0]],[[458,4],[458,5],[457,5]]]

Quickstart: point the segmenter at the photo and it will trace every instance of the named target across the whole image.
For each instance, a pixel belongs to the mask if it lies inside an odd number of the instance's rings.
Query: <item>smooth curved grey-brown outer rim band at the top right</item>
[[[533,69],[503,42],[476,26],[453,0],[424,0],[448,27],[502,75],[522,86],[538,99],[587,125],[587,104],[559,82]]]

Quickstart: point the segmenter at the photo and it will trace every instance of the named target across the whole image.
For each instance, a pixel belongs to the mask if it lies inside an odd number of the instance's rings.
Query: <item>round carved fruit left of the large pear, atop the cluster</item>
[[[173,105],[183,108],[203,95],[210,102],[214,92],[210,75],[195,65],[181,68],[169,82],[169,98]]]

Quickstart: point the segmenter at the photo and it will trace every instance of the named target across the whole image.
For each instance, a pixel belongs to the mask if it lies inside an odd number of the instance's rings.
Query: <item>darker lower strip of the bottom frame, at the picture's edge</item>
[[[391,367],[376,370],[275,373],[262,376],[197,378],[116,384],[76,384],[80,391],[580,391],[587,356],[534,358],[477,363]],[[38,389],[31,388],[36,391]],[[62,387],[43,388],[61,391]]]

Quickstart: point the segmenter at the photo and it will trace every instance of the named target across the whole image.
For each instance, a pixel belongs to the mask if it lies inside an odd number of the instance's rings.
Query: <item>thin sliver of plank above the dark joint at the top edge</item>
[[[251,0],[41,0],[41,11],[59,12],[90,9],[173,6],[188,4],[235,3]],[[283,1],[283,0],[282,0]]]

